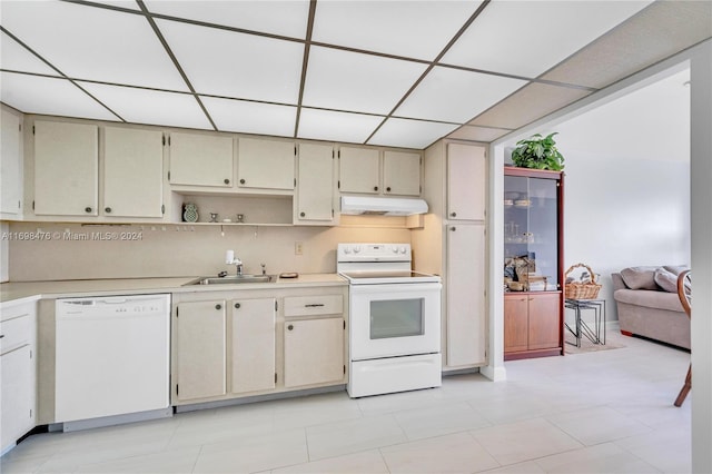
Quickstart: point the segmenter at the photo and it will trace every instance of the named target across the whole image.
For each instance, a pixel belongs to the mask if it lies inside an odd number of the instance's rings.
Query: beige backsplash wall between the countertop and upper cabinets
[[[389,220],[388,220],[389,219]],[[346,220],[346,219],[344,219]],[[409,243],[403,218],[353,217],[340,227],[134,225],[81,226],[78,224],[11,223],[10,231],[43,239],[10,240],[9,274],[12,282],[87,278],[207,276],[227,270],[225,250],[233,249],[246,274],[281,271],[333,273],[339,241]],[[379,227],[383,225],[400,228]],[[95,233],[126,233],[137,240],[99,240]],[[85,239],[86,240],[79,240]],[[303,255],[295,255],[301,241]]]

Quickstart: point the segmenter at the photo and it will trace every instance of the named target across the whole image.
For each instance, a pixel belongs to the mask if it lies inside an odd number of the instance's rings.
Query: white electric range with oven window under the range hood
[[[442,385],[441,278],[413,271],[409,244],[339,244],[349,282],[352,397]]]

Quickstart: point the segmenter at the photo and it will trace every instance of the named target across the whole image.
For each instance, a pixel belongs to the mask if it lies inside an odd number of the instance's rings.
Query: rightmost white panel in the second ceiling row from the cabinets
[[[525,83],[520,79],[435,67],[394,115],[464,124]]]

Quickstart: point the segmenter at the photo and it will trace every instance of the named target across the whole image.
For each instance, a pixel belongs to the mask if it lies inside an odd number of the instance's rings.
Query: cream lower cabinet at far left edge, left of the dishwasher
[[[0,454],[34,427],[36,304],[3,305],[0,320]]]

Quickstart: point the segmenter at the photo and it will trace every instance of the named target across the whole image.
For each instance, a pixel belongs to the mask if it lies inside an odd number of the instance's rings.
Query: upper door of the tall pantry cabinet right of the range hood
[[[484,220],[485,148],[447,145],[447,218]]]

